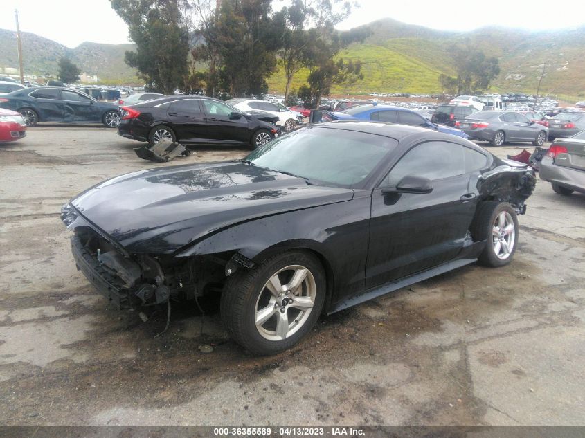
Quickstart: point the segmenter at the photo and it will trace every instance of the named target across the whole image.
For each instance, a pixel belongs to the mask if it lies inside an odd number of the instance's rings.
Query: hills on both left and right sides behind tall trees
[[[332,93],[438,93],[441,73],[453,75],[449,48],[467,42],[486,55],[498,57],[501,74],[492,91],[535,93],[542,66],[546,76],[541,93],[585,97],[585,26],[567,30],[528,31],[488,27],[471,32],[446,32],[381,19],[368,24],[370,36],[352,44],[340,56],[363,63],[363,80],[341,84]],[[18,66],[15,33],[0,29],[0,67]],[[33,33],[23,33],[26,74],[57,73],[57,61],[69,55],[83,72],[107,82],[136,82],[136,71],[124,62],[132,44],[83,43],[70,49]],[[305,83],[308,71],[296,75],[293,89]],[[282,92],[282,72],[269,78],[269,89]]]

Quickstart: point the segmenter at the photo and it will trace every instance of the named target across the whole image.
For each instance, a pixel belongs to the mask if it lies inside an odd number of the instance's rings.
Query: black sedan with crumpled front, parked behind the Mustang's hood
[[[268,122],[242,113],[221,100],[172,95],[120,107],[118,134],[151,145],[163,139],[182,145],[258,147],[277,134]]]

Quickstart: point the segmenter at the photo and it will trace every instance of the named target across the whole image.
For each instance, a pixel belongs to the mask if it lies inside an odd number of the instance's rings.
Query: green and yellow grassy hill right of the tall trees
[[[569,30],[536,31],[489,27],[466,33],[444,32],[381,19],[367,25],[370,36],[340,54],[363,62],[363,80],[342,84],[332,93],[438,93],[441,73],[453,75],[449,48],[467,42],[498,58],[501,74],[492,91],[535,93],[542,66],[546,75],[541,93],[585,96],[585,26]],[[307,72],[295,78],[303,84]],[[269,80],[271,91],[284,89],[279,71]]]

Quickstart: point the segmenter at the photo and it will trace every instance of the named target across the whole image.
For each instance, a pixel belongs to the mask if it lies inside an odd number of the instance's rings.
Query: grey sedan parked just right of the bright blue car
[[[478,111],[456,122],[456,128],[469,136],[469,140],[489,141],[501,146],[507,141],[529,141],[542,146],[548,138],[548,128],[529,120],[514,111]]]

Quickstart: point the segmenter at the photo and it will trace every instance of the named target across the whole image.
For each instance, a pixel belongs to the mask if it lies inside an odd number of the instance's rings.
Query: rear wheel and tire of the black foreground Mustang
[[[518,218],[509,203],[481,203],[470,231],[474,241],[487,241],[478,264],[496,268],[512,262],[518,246]]]

